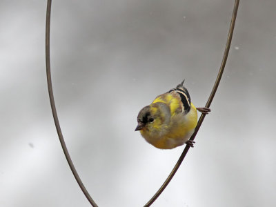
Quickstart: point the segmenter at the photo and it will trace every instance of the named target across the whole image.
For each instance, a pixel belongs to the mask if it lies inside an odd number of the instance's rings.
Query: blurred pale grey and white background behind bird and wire
[[[53,1],[52,82],[72,160],[99,206],[144,206],[184,146],[135,132],[183,79],[204,106],[234,1]],[[241,1],[212,112],[152,206],[275,206],[276,1]],[[0,2],[0,206],[90,206],[61,150],[45,66],[46,1]]]

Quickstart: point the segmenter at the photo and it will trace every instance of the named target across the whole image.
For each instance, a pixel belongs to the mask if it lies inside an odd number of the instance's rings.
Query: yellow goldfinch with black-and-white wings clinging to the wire
[[[195,142],[188,139],[197,126],[197,110],[210,112],[209,108],[195,108],[183,84],[157,96],[139,112],[135,131],[156,148],[172,149],[185,143],[193,147]]]

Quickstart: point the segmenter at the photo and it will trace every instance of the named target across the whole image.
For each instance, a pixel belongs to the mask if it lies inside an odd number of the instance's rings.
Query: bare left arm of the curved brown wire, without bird
[[[92,197],[89,195],[88,191],[86,190],[86,187],[83,185],[77,170],[72,163],[72,159],[69,155],[68,149],[66,147],[62,132],[61,132],[61,127],[59,126],[59,118],[57,117],[57,110],[55,106],[55,100],[54,100],[54,95],[52,92],[52,79],[51,79],[51,70],[50,70],[50,15],[51,15],[51,5],[52,1],[48,0],[47,1],[47,11],[46,11],[46,73],[47,73],[47,83],[48,83],[48,92],[49,92],[49,97],[50,97],[50,103],[51,103],[51,108],[52,108],[52,116],[54,117],[55,121],[55,126],[57,128],[57,135],[59,135],[59,141],[61,143],[61,147],[63,149],[64,155],[68,161],[68,164],[72,170],[72,173],[77,180],[77,183],[79,184],[79,187],[81,188],[83,194],[86,196],[90,204],[94,207],[97,207],[97,204],[95,201],[93,201]]]

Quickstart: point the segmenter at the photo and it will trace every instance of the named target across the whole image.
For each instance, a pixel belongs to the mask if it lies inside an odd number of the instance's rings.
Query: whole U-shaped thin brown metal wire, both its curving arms
[[[48,92],[49,92],[49,98],[50,98],[50,104],[51,104],[51,108],[52,108],[52,115],[54,117],[54,121],[55,121],[55,126],[57,128],[57,134],[59,136],[59,141],[61,142],[61,147],[63,149],[64,155],[66,156],[66,159],[68,161],[68,165],[70,166],[70,169],[72,170],[72,174],[74,175],[75,179],[77,180],[77,183],[79,184],[79,187],[81,188],[83,194],[86,196],[86,198],[88,199],[88,201],[90,202],[90,204],[94,207],[97,207],[97,204],[95,203],[95,201],[92,199],[92,197],[89,195],[88,191],[86,190],[86,187],[83,185],[77,170],[74,166],[74,164],[72,163],[72,159],[70,158],[70,154],[68,152],[68,149],[66,147],[66,143],[64,141],[62,132],[61,132],[61,127],[59,125],[59,119],[57,117],[57,110],[55,107],[55,99],[54,99],[54,95],[53,95],[53,91],[52,91],[52,79],[51,79],[51,70],[50,70],[50,14],[51,14],[51,5],[52,5],[52,1],[48,0],[47,1],[47,11],[46,11],[46,73],[47,73],[47,83],[48,83]],[[226,65],[226,60],[228,57],[228,52],[230,49],[230,43],[233,37],[233,31],[234,31],[234,27],[235,27],[235,20],[237,17],[237,9],[239,7],[239,0],[235,0],[235,6],[234,6],[234,10],[233,10],[233,15],[232,15],[232,20],[230,23],[230,29],[228,32],[228,39],[227,39],[227,43],[226,43],[226,48],[224,51],[224,57],[222,59],[221,62],[221,66],[219,68],[219,73],[217,75],[217,79],[215,81],[215,85],[213,86],[213,90],[210,93],[210,97],[206,103],[206,107],[209,108],[211,102],[213,101],[213,98],[215,96],[215,92],[217,91],[217,87],[219,86],[219,81],[221,80],[221,76],[222,73],[224,72],[224,68]],[[195,132],[192,135],[192,137],[190,137],[190,140],[194,140],[195,136],[197,135],[197,132],[202,124],[202,122],[204,121],[204,117],[205,115],[202,114],[201,117],[199,118],[199,121],[197,123],[197,127],[195,128]],[[175,172],[177,172],[179,166],[181,165],[181,162],[184,160],[188,150],[189,150],[189,146],[186,146],[186,148],[184,148],[184,151],[182,152],[181,156],[179,157],[177,164],[175,164],[175,167],[172,169],[172,172],[170,172],[170,175],[168,176],[168,178],[166,179],[166,181],[164,182],[164,184],[161,186],[161,188],[159,188],[159,190],[157,191],[157,193],[155,193],[155,195],[150,199],[150,201],[148,201],[148,203],[145,206],[150,206],[156,199],[157,197],[159,197],[159,195],[161,195],[161,193],[163,192],[163,190],[166,188],[166,186],[168,186],[170,180],[172,179],[172,177],[175,175]]]

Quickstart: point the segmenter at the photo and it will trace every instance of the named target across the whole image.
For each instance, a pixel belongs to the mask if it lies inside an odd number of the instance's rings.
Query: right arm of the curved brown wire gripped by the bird
[[[226,48],[224,50],[224,57],[221,61],[221,66],[219,68],[219,73],[217,74],[217,79],[213,86],[213,90],[210,93],[210,97],[206,103],[205,107],[207,107],[207,108],[210,107],[210,104],[212,103],[213,98],[215,97],[215,93],[217,92],[217,87],[219,86],[219,81],[221,80],[222,73],[224,72],[224,68],[226,65],[226,61],[227,61],[227,57],[228,57],[228,53],[229,53],[229,49],[230,49],[230,44],[231,44],[232,37],[233,37],[233,31],[235,28],[235,21],[236,21],[236,17],[237,17],[237,9],[238,8],[239,8],[239,0],[235,0],[235,6],[233,9],[232,19],[231,19],[231,23],[230,23],[229,32],[228,32],[228,38],[226,41]],[[197,127],[195,128],[195,132],[193,133],[192,137],[190,137],[190,140],[195,139],[195,136],[197,135],[197,132],[198,132],[202,122],[204,121],[204,118],[205,118],[205,114],[201,114],[199,121],[197,122]],[[175,175],[175,172],[177,172],[179,166],[181,165],[182,161],[184,160],[189,148],[190,148],[190,146],[188,146],[188,145],[184,148],[184,151],[180,155],[180,157],[177,161],[177,164],[175,164],[175,167],[172,169],[172,172],[170,172],[170,175],[168,175],[168,178],[166,179],[166,181],[164,181],[164,184],[159,188],[159,190],[157,190],[157,193],[155,193],[155,195],[150,199],[150,201],[148,201],[148,203],[146,203],[145,207],[150,206],[159,197],[159,195],[161,195],[161,193],[166,188],[166,186],[168,186],[168,184],[170,183],[170,180]]]

